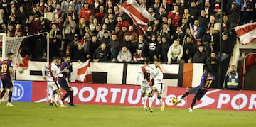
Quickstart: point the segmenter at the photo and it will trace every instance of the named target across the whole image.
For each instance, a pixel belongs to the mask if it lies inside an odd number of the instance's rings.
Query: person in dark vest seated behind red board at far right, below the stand
[[[235,65],[231,65],[230,72],[226,77],[226,88],[231,90],[238,90],[240,80],[238,78],[237,67]]]

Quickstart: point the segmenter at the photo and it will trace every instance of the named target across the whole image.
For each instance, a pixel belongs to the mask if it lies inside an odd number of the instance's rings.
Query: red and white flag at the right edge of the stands
[[[252,43],[256,38],[256,22],[237,26],[235,27],[235,32],[238,34],[242,45]]]

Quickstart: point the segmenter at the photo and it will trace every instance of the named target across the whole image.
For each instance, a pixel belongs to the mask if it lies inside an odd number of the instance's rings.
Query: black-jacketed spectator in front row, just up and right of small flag
[[[101,43],[100,47],[93,54],[93,62],[107,62],[109,53],[107,52],[106,43]]]

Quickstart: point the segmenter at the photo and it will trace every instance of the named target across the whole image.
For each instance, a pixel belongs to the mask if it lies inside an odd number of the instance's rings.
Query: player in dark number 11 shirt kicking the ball
[[[191,108],[189,108],[189,112],[192,112],[193,106],[196,104],[196,100],[199,101],[206,94],[208,89],[210,89],[210,84],[212,84],[213,80],[215,80],[215,77],[213,76],[213,74],[210,74],[210,72],[212,72],[211,67],[206,67],[206,69],[204,70],[204,74],[201,77],[200,85],[198,87],[190,89],[188,92],[183,94],[183,96],[177,103],[181,102],[181,100],[184,97],[188,96],[188,94],[196,94],[193,98]]]

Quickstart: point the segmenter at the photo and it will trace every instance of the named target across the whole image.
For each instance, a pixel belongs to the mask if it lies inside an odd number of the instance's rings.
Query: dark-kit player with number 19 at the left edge
[[[13,62],[12,62],[13,59],[14,59],[14,53],[7,53],[7,60],[4,60],[3,62],[1,62],[1,67],[0,67],[1,82],[4,88],[4,90],[1,92],[0,103],[1,103],[1,99],[3,99],[4,97],[6,90],[9,89],[7,106],[14,106],[13,104],[11,104],[11,97],[12,97],[12,92],[14,87],[12,80],[15,79]]]

